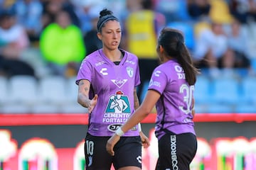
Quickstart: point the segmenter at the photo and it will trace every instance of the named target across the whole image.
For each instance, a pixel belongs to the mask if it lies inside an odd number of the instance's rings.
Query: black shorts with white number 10
[[[85,137],[85,165],[87,170],[110,170],[112,164],[115,169],[124,166],[137,166],[142,169],[142,142],[137,137],[121,137],[114,146],[112,157],[106,150],[110,137],[95,137],[87,134]]]

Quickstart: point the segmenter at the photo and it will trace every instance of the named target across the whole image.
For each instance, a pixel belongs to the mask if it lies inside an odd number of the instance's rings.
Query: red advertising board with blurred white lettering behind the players
[[[151,113],[142,123],[153,123]],[[242,123],[255,121],[256,114],[198,114],[196,122]],[[18,143],[6,126],[29,125],[87,125],[86,114],[22,114],[0,115],[0,170],[81,170],[85,169],[83,141],[73,148],[55,147],[47,138],[31,137]],[[149,130],[151,146],[143,149],[143,170],[154,169],[157,140],[154,128]],[[245,137],[218,137],[210,142],[198,137],[198,152],[191,164],[192,170],[252,170],[256,167],[256,139]]]

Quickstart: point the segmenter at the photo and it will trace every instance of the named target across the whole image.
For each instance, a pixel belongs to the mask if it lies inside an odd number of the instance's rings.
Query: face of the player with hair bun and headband
[[[118,21],[107,21],[105,26],[102,27],[102,32],[97,35],[102,40],[103,47],[108,50],[116,50],[122,37],[120,23]]]

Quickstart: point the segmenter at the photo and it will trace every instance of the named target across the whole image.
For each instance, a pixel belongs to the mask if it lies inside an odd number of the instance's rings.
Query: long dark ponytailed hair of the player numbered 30
[[[196,74],[199,72],[193,65],[192,57],[184,43],[182,33],[175,29],[164,28],[159,36],[159,45],[164,48],[166,55],[175,58],[181,64],[188,84],[196,84]]]

